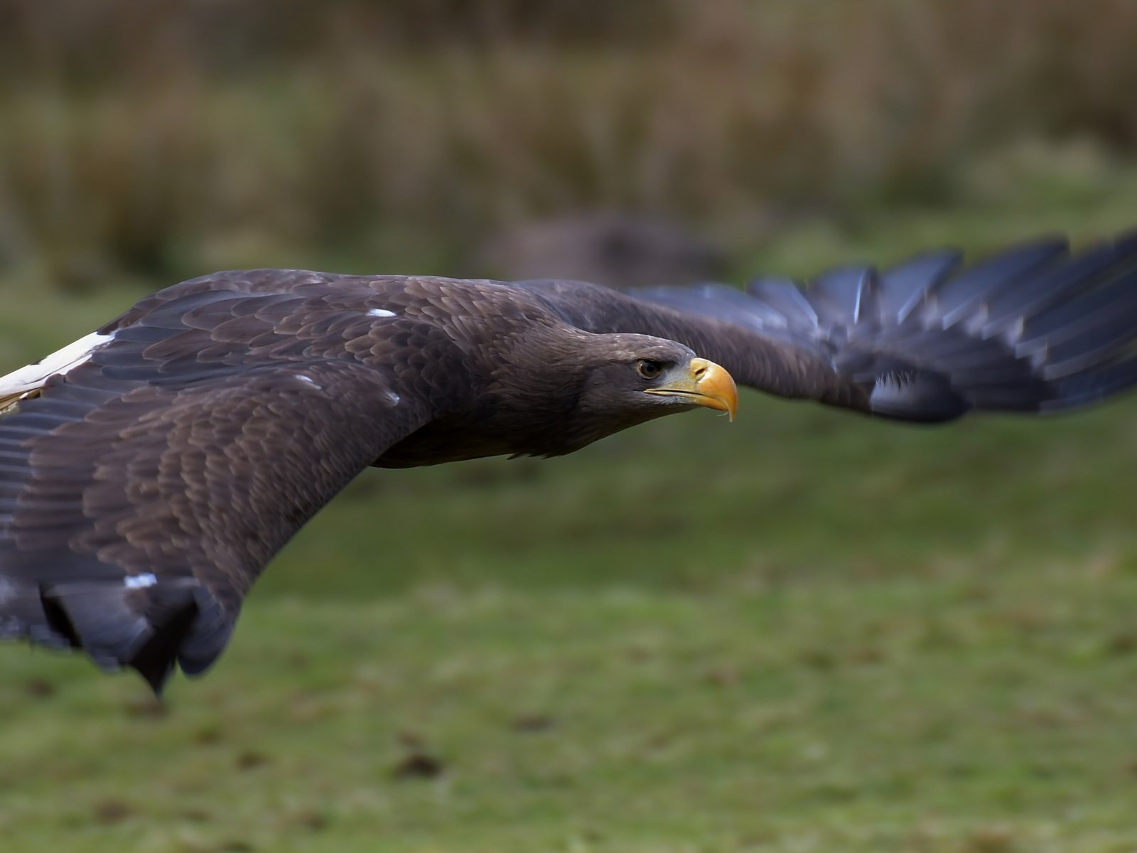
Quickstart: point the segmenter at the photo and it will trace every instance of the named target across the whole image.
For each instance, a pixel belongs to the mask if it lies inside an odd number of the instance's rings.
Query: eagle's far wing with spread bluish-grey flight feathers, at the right
[[[1137,384],[1137,235],[1077,255],[1041,240],[970,267],[932,251],[805,287],[520,285],[582,329],[672,338],[744,384],[898,420],[1054,412]]]

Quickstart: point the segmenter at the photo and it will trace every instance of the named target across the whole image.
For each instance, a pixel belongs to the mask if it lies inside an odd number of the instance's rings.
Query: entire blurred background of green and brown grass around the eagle
[[[0,0],[0,372],[226,267],[1085,245],[1137,224],[1135,44],[1128,0]],[[165,704],[0,648],[0,837],[1137,850],[1135,420],[752,394],[368,472]]]

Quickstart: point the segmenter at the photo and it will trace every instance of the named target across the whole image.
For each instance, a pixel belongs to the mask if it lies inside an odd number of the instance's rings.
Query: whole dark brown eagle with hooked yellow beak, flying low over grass
[[[881,419],[1062,412],[1137,383],[1137,233],[617,292],[219,272],[0,378],[0,637],[160,691],[371,465],[558,456],[739,384]]]

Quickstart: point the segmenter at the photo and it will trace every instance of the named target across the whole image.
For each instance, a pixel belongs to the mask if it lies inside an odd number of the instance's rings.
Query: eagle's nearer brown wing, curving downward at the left
[[[370,363],[379,318],[317,303],[151,298],[0,417],[0,637],[155,689],[216,659],[272,555],[430,417]]]

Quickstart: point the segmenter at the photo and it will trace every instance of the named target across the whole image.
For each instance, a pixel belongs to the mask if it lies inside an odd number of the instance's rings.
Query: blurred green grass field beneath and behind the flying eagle
[[[1137,209],[1112,184],[803,226],[747,266],[1105,235]],[[136,295],[0,293],[11,366]],[[368,472],[165,704],[0,648],[0,848],[1129,853],[1135,423],[749,394],[735,424]]]

